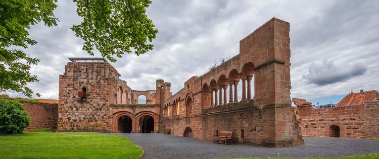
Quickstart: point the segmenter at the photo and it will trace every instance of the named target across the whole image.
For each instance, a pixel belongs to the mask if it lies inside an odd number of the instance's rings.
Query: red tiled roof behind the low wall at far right
[[[379,99],[379,93],[375,90],[365,91],[361,93],[351,93],[337,103],[336,107],[348,106],[348,105],[360,105],[365,104],[368,101],[375,101]]]

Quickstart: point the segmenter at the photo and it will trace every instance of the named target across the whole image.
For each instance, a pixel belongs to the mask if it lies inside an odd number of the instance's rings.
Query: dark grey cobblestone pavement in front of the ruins
[[[267,148],[256,145],[217,144],[191,137],[154,134],[122,134],[145,150],[143,158],[218,158],[218,157],[337,157],[379,152],[379,141],[346,138],[304,138],[291,147]]]

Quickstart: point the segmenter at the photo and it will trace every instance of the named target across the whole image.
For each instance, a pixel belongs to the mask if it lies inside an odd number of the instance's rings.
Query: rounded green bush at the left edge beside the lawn
[[[29,124],[30,118],[19,101],[0,99],[0,135],[20,133]]]

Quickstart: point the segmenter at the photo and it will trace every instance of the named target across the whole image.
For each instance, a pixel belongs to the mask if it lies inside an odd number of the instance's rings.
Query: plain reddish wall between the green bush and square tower
[[[22,104],[31,119],[30,125],[26,128],[26,131],[44,127],[50,128],[53,131],[57,130],[58,104]]]

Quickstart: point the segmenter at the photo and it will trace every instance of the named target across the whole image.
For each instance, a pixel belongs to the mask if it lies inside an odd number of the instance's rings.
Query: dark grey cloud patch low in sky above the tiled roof
[[[337,67],[333,61],[323,61],[322,64],[313,63],[309,72],[303,78],[310,84],[324,86],[348,81],[353,77],[364,74],[367,67],[363,63],[346,64]]]

